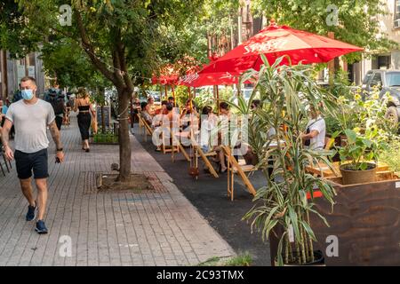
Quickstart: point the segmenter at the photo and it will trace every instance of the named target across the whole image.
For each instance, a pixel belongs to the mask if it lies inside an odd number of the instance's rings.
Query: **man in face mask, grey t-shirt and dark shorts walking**
[[[8,160],[15,158],[20,187],[29,202],[27,221],[36,218],[36,232],[48,233],[44,225],[44,213],[47,202],[47,126],[57,146],[56,162],[63,162],[64,154],[60,131],[55,122],[52,105],[36,98],[36,82],[32,77],[20,80],[22,99],[13,103],[5,114],[1,138],[5,156]],[[9,146],[9,132],[15,126],[15,153]],[[33,197],[31,177],[32,170],[36,181],[37,199]]]

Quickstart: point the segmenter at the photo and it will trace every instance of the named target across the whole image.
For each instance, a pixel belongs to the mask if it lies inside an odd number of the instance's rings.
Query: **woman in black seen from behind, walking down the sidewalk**
[[[79,131],[82,138],[82,150],[90,152],[89,146],[89,128],[91,127],[92,116],[95,117],[96,112],[92,108],[89,94],[84,88],[80,88],[76,93],[77,99],[75,100],[74,111],[79,110],[77,115],[77,122]]]

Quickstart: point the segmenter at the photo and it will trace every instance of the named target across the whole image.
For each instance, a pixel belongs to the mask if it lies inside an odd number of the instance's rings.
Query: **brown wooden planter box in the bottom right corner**
[[[315,209],[330,225],[311,216],[316,249],[324,253],[326,265],[400,265],[400,179],[388,173],[378,179],[341,185],[341,177],[328,178],[337,193],[333,212],[329,202],[315,199]],[[327,256],[327,250],[333,251],[329,236],[338,238],[339,256]]]

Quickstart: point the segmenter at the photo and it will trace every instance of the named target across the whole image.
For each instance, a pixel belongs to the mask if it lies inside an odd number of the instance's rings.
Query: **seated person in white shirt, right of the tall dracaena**
[[[302,133],[300,138],[304,145],[313,150],[324,150],[326,124],[321,111],[315,106],[309,108],[310,120],[307,124],[306,133]]]

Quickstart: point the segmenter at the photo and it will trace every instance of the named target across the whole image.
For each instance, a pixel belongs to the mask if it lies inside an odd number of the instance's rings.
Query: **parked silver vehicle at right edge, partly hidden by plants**
[[[389,93],[392,97],[388,103],[386,117],[397,124],[400,117],[400,70],[371,70],[364,76],[363,92],[370,92],[376,86],[380,90],[380,98]]]

